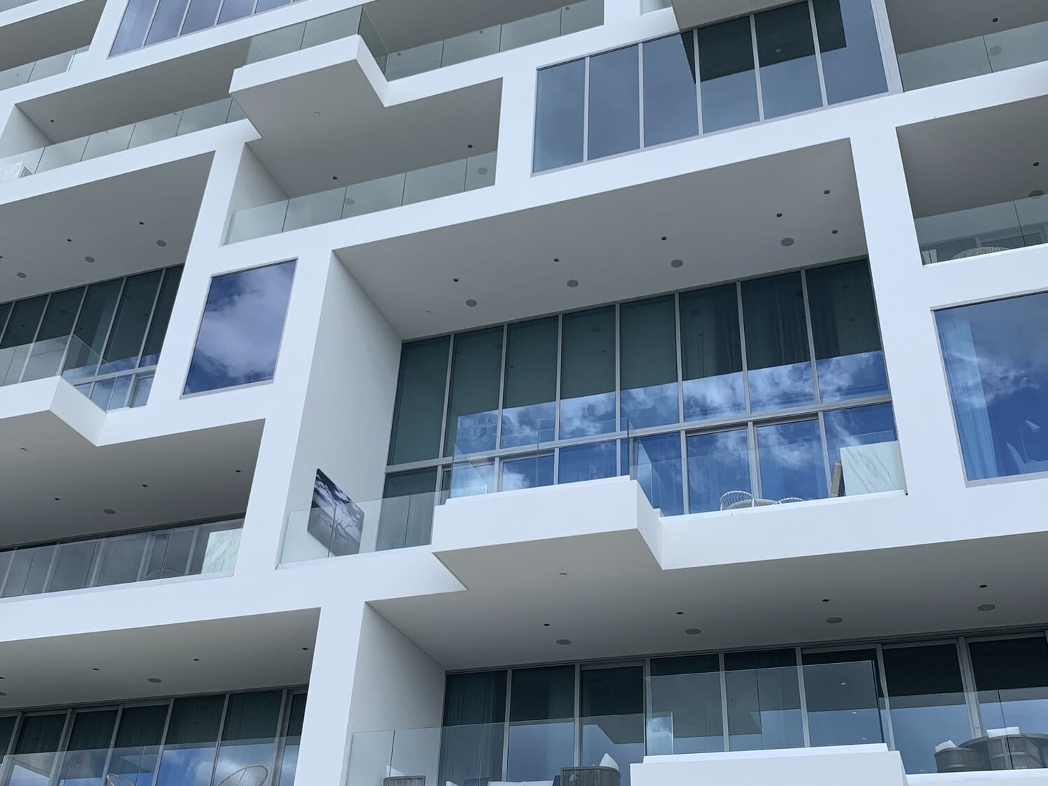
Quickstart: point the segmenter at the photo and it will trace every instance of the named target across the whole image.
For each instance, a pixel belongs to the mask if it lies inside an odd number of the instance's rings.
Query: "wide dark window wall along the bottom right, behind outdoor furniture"
[[[605,766],[627,783],[646,755],[880,742],[910,773],[1048,767],[1045,631],[454,674],[445,696],[442,782],[463,782],[459,760],[503,780],[503,722],[509,782]]]

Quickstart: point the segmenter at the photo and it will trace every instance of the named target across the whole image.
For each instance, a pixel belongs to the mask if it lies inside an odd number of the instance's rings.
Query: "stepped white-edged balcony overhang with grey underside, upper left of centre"
[[[500,80],[396,102],[359,36],[239,68],[230,92],[262,137],[252,151],[288,197],[498,146]]]

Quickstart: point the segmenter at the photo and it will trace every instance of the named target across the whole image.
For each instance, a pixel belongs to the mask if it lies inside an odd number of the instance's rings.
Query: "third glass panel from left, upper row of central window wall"
[[[556,417],[555,316],[510,325],[502,399],[502,446],[553,439]]]

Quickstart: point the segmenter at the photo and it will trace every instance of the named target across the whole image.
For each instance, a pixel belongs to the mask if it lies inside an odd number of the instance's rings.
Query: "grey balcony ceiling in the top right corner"
[[[1044,0],[887,0],[887,3],[895,50],[900,54],[1048,19]]]

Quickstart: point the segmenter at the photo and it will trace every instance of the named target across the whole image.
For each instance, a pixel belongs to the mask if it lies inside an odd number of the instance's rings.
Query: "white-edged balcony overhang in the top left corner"
[[[0,12],[0,71],[91,42],[105,0],[30,0]]]

